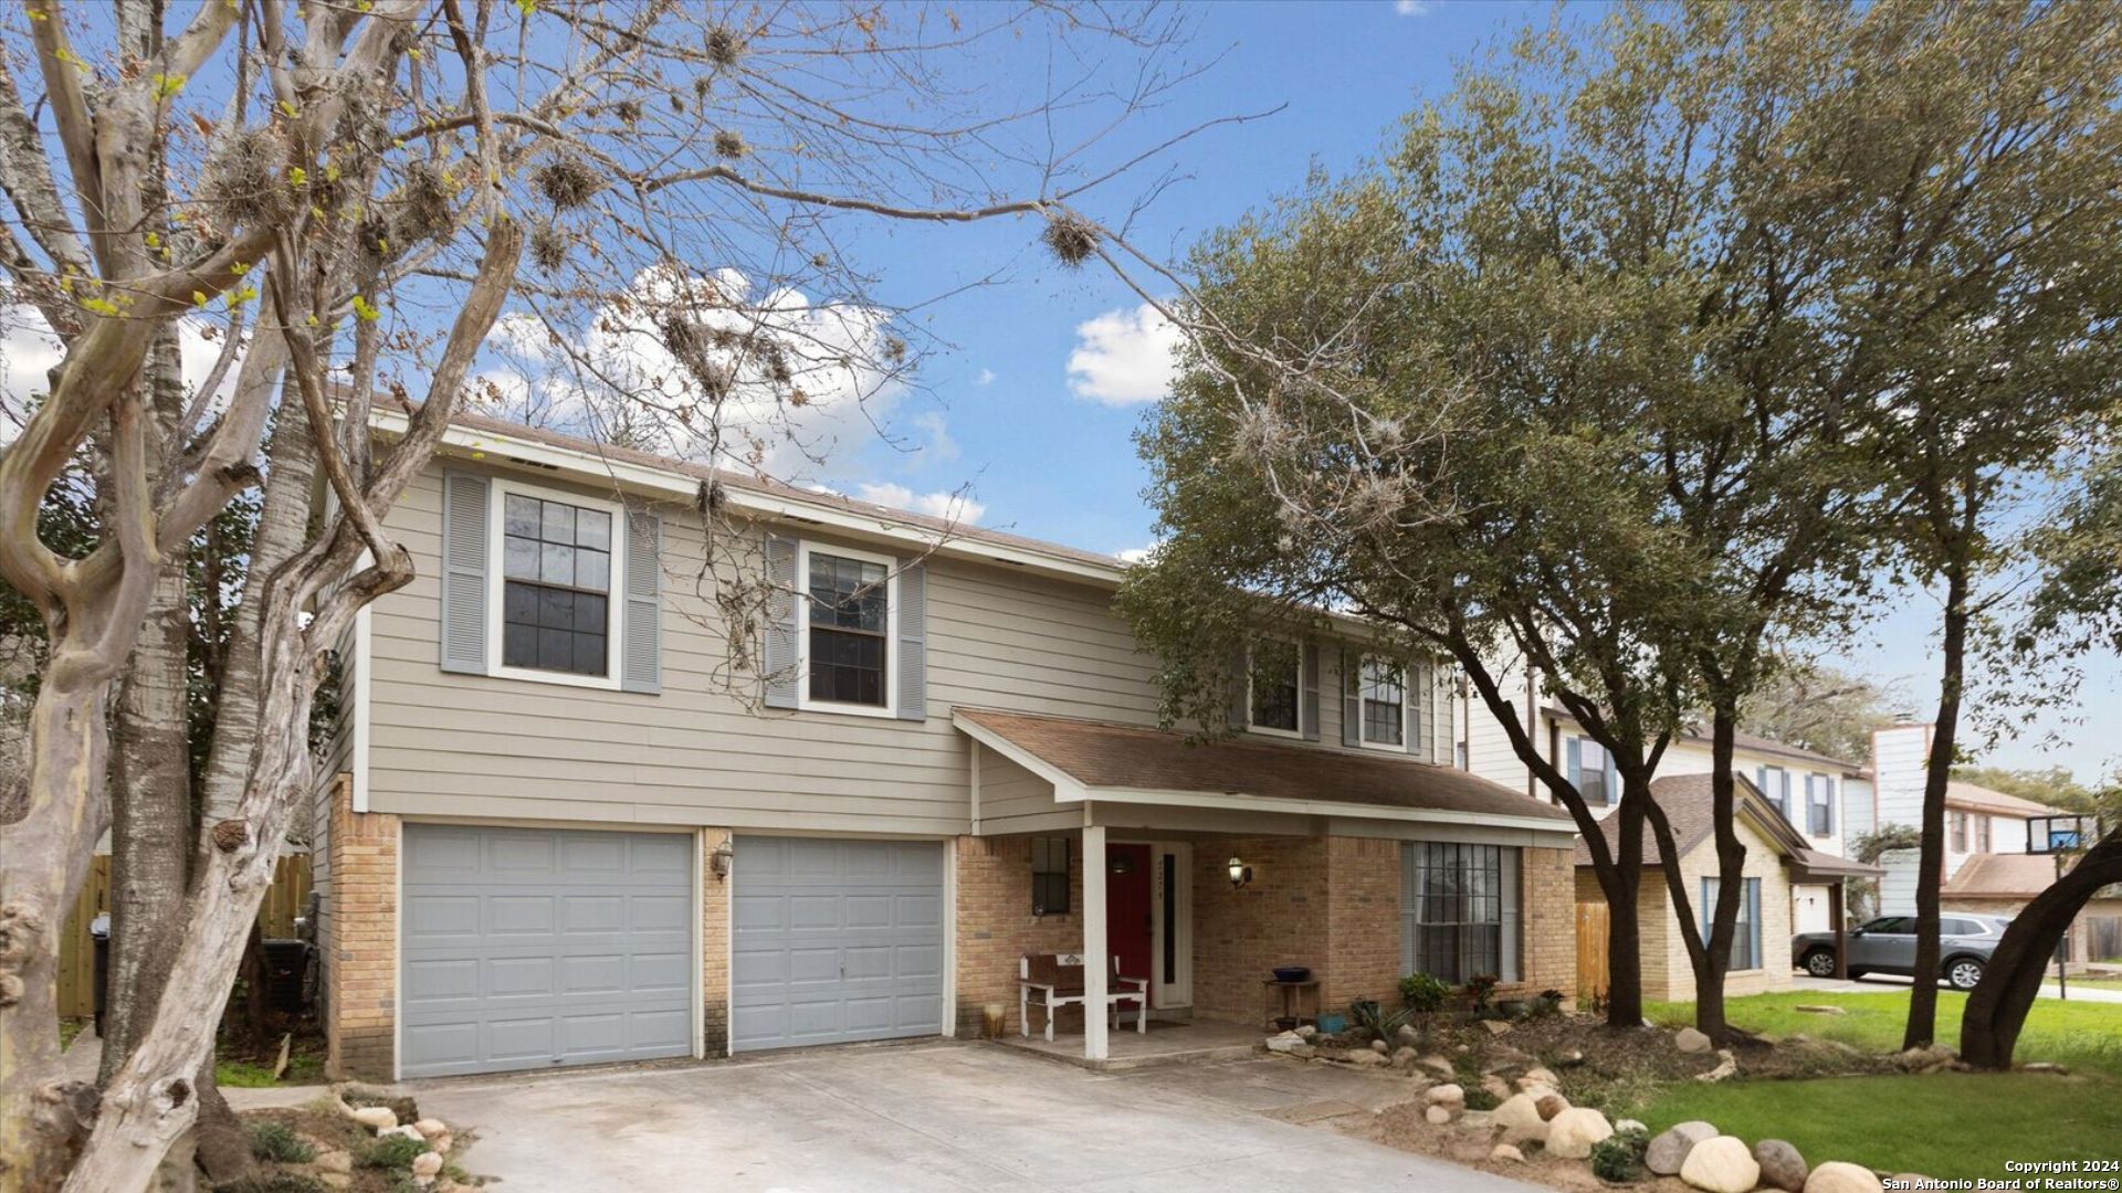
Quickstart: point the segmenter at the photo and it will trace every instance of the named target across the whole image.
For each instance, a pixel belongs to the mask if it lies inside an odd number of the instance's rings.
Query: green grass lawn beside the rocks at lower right
[[[1846,1015],[1808,1015],[1797,1004]],[[1940,1038],[1959,1044],[1967,998],[1937,996]],[[1655,1004],[1651,1019],[1689,1023],[1691,1004]],[[1732,1023],[1763,1036],[1804,1032],[1865,1051],[1897,1051],[1908,991],[1763,993],[1734,998]],[[1891,1074],[1814,1080],[1681,1083],[1636,1114],[1651,1131],[1687,1119],[1746,1142],[1789,1140],[1808,1161],[1848,1159],[1886,1172],[2003,1178],[2007,1159],[2114,1159],[2122,1140],[2122,1004],[2039,1000],[2020,1034],[2020,1061],[2063,1061],[2052,1074]]]

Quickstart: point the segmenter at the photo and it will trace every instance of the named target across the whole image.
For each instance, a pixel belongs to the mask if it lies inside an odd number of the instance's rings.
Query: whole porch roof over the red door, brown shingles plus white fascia
[[[1176,732],[999,709],[953,724],[1055,785],[1057,802],[1140,802],[1575,834],[1568,813],[1466,771],[1318,745],[1188,743]]]

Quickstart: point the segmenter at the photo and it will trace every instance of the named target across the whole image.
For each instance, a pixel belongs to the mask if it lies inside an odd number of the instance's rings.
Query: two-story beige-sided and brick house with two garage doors
[[[1016,1032],[1046,951],[1248,1025],[1271,966],[1572,985],[1568,817],[1449,766],[1439,669],[1356,622],[1256,641],[1190,747],[1108,556],[482,418],[388,526],[318,794],[333,1072]]]

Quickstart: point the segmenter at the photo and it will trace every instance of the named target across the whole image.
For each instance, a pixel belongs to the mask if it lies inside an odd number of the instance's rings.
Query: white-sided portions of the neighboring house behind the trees
[[[1524,675],[1517,675],[1509,690],[1517,694],[1517,715],[1528,737],[1558,771],[1570,777],[1585,796],[1592,815],[1606,817],[1621,798],[1619,777],[1613,773],[1606,751],[1577,726],[1575,715],[1543,703],[1538,690],[1524,684]],[[1496,717],[1488,715],[1479,701],[1460,698],[1458,705],[1454,726],[1460,737],[1462,764],[1475,775],[1524,790],[1534,798],[1547,798],[1545,788],[1511,749],[1509,734],[1496,724]],[[1657,779],[1708,775],[1710,762],[1708,737],[1681,734],[1666,745]],[[1846,841],[1869,830],[1872,781],[1855,762],[1742,732],[1734,741],[1732,771],[1753,781],[1755,792],[1782,815],[1804,847],[1814,853],[1842,855]],[[1833,930],[1838,894],[1831,887],[1838,883],[1791,883],[1785,921],[1793,926],[1793,932]]]

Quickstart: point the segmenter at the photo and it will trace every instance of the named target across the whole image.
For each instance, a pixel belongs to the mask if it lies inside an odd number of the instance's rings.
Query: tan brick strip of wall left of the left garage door
[[[397,1066],[399,817],[356,813],[352,781],[331,788],[323,900],[325,1072],[390,1080]]]

